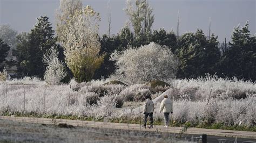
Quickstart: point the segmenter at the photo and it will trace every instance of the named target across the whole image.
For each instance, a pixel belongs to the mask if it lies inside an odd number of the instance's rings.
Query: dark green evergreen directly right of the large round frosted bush
[[[214,35],[207,40],[202,30],[196,33],[185,33],[180,37],[179,48],[178,77],[197,78],[206,73],[214,74],[218,71],[220,51],[217,37]]]

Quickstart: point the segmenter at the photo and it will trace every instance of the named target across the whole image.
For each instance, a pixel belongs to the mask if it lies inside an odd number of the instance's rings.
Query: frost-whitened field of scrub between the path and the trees
[[[11,114],[23,112],[133,120],[143,116],[133,114],[131,109],[136,107],[136,103],[141,103],[146,94],[152,94],[155,98],[168,89],[152,89],[149,84],[104,84],[109,81],[77,83],[71,80],[69,84],[58,86],[45,86],[43,81],[29,77],[6,81],[0,85],[0,113],[8,111]],[[169,83],[175,91],[186,92],[185,97],[187,94],[193,94],[192,99],[182,97],[174,101],[174,121],[255,126],[255,83],[210,76],[197,80],[174,80]],[[122,108],[126,101],[134,104]],[[154,119],[163,120],[163,115],[158,112],[159,103],[156,103],[156,107]]]

